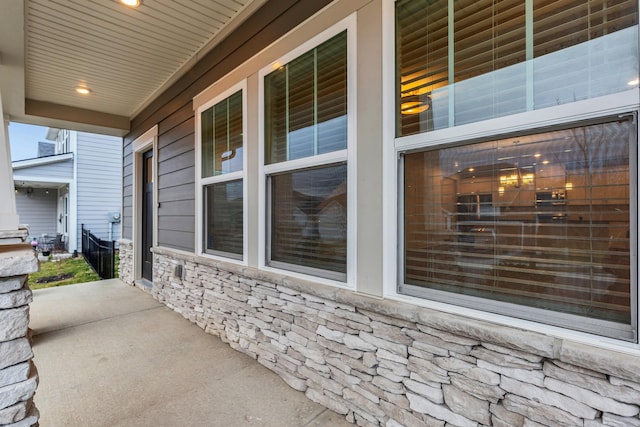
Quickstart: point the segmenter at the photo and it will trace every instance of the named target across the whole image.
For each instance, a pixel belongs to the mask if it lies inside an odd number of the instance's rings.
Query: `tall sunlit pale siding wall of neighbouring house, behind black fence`
[[[109,239],[109,213],[120,212],[122,203],[122,139],[78,132],[77,224],[84,224],[101,239]],[[111,227],[111,240],[120,238],[120,224]]]

